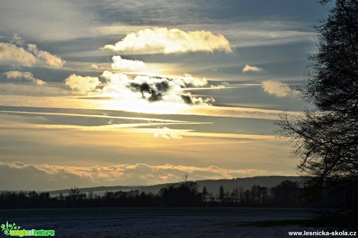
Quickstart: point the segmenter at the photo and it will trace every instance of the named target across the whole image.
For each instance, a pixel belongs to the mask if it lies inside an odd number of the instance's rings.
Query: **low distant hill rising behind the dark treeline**
[[[284,180],[291,181],[301,181],[300,177],[297,176],[258,176],[258,177],[248,177],[248,178],[236,178],[236,179],[216,179],[216,180],[197,180],[199,185],[199,191],[203,189],[204,186],[207,187],[208,191],[217,194],[220,185],[223,185],[225,190],[232,191],[232,189],[236,187],[243,187],[244,189],[249,189],[253,185],[260,185],[263,187],[272,187]],[[81,192],[89,192],[93,191],[95,194],[101,195],[105,191],[117,191],[117,190],[131,190],[131,189],[139,189],[140,192],[151,192],[158,193],[159,190],[165,186],[166,184],[156,184],[150,186],[100,186],[100,187],[92,187],[92,188],[79,188]],[[57,195],[59,193],[67,194],[69,189],[62,190],[54,190],[50,191],[51,195]]]

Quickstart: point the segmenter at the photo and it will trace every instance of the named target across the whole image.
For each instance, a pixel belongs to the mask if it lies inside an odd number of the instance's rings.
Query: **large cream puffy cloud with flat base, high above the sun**
[[[210,31],[182,31],[179,29],[152,28],[130,33],[114,45],[103,49],[126,53],[187,53],[213,52],[214,50],[232,52],[229,41],[220,34]]]

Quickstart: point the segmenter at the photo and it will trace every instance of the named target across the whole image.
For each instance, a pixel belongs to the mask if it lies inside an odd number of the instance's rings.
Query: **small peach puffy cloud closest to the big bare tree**
[[[265,80],[262,81],[262,84],[262,88],[266,93],[275,95],[279,98],[300,95],[299,91],[291,89],[287,84],[281,83],[277,80]]]

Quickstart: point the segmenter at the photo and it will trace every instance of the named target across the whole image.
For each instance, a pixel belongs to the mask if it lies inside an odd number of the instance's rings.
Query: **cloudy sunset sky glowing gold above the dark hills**
[[[2,0],[0,190],[295,175],[312,0]]]

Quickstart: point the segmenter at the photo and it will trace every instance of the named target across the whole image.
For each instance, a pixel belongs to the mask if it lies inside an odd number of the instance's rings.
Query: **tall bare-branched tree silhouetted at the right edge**
[[[357,197],[358,1],[336,0],[318,23],[318,51],[309,56],[300,89],[312,108],[300,116],[284,111],[277,133],[294,142],[291,155],[311,194],[341,187]]]

